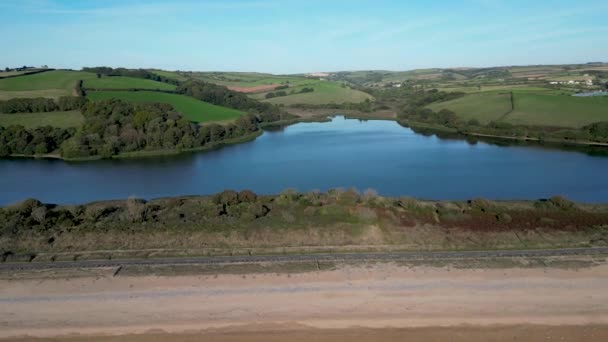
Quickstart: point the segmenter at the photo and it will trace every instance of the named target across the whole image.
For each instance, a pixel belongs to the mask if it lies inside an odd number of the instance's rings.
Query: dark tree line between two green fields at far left
[[[68,111],[80,109],[87,99],[77,96],[62,96],[57,100],[37,98],[13,98],[0,101],[0,113],[40,113],[54,111]]]

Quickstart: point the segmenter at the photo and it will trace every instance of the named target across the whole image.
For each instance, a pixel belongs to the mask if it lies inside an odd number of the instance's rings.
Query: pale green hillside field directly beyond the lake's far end
[[[307,86],[313,88],[315,91],[311,93],[293,94],[288,96],[275,97],[266,102],[274,104],[327,104],[327,103],[344,103],[352,102],[358,103],[363,102],[366,99],[373,100],[374,98],[362,91],[350,89],[348,87],[343,88],[339,83],[329,81],[317,81]],[[287,93],[291,90],[299,91],[302,87],[294,87],[286,89]],[[262,96],[259,94],[258,96]]]

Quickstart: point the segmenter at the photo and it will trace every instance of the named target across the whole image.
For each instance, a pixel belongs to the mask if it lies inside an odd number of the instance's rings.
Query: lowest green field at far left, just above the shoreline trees
[[[48,113],[0,114],[0,126],[21,125],[25,128],[53,126],[59,128],[79,127],[84,122],[80,111]]]

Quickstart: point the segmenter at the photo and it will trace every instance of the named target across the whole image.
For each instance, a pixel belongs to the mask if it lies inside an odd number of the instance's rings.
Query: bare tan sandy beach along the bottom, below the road
[[[1,280],[0,337],[608,340],[608,265],[450,269],[377,264],[299,274],[112,274]]]

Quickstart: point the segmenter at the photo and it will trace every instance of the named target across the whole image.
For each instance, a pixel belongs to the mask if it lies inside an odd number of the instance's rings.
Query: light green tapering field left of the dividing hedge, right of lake
[[[477,119],[482,124],[496,121],[511,110],[510,93],[477,93],[428,106],[434,111],[452,110],[465,121]]]

